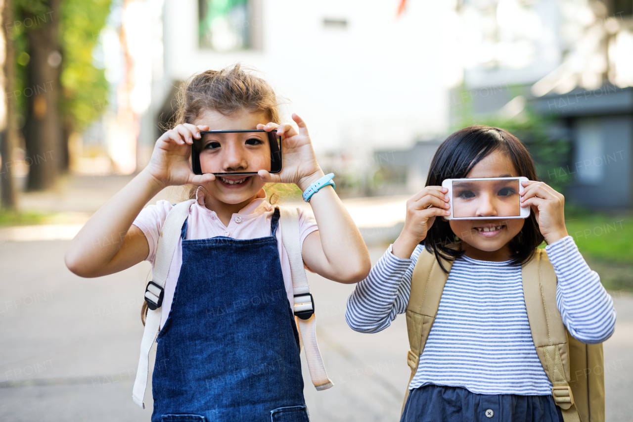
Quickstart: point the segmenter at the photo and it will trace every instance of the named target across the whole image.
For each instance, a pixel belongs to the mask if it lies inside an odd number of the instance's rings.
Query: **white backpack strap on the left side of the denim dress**
[[[145,300],[147,302],[147,317],[145,319],[145,330],[141,342],[141,357],[139,358],[139,368],[136,371],[134,380],[134,390],[132,399],[136,404],[145,409],[143,399],[147,388],[147,373],[149,372],[149,350],[156,340],[158,329],[160,328],[161,306],[163,305],[163,290],[165,281],[172,264],[173,252],[178,245],[180,230],[189,215],[189,207],[196,200],[189,200],[175,205],[167,214],[158,246],[156,247],[156,260],[154,260],[154,274],[152,281],[147,283],[145,289]]]

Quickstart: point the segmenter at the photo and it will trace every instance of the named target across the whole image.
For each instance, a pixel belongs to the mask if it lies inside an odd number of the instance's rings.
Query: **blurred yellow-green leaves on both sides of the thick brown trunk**
[[[18,120],[23,122],[27,87],[28,40],[27,31],[51,22],[58,13],[58,36],[63,57],[61,63],[60,109],[63,120],[75,131],[82,131],[103,112],[108,97],[108,81],[104,69],[95,67],[92,51],[99,41],[99,32],[110,14],[111,0],[63,0],[59,11],[52,11],[45,0],[16,0],[13,2],[14,23],[10,37],[15,43],[16,78],[15,104]],[[31,25],[25,20],[31,18]],[[11,97],[13,98],[13,96]]]

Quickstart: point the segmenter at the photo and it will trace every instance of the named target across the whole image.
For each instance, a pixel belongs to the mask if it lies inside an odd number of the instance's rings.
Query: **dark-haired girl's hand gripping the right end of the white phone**
[[[548,244],[568,236],[565,227],[565,196],[544,182],[522,181],[521,207],[532,207],[541,234]]]

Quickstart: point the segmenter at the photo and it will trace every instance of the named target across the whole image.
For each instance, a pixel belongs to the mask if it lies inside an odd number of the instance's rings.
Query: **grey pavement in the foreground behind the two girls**
[[[142,411],[131,394],[149,265],[81,279],[63,264],[67,246],[0,243],[0,420],[148,421],[151,397]],[[381,254],[373,248],[373,262]],[[316,392],[305,371],[311,419],[397,421],[409,373],[404,318],[382,333],[355,333],[344,320],[353,286],[313,274],[310,283],[320,347],[335,382]],[[624,422],[633,420],[633,297],[614,296],[617,330],[605,343],[607,421]]]

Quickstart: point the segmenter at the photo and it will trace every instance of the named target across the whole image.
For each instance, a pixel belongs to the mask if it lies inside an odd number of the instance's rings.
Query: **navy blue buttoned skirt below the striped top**
[[[563,422],[551,395],[475,394],[425,385],[409,392],[400,422]]]

